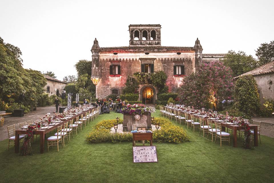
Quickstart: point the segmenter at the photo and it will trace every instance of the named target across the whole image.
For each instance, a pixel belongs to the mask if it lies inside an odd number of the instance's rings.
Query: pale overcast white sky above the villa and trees
[[[194,46],[203,53],[255,49],[274,39],[269,1],[46,1],[0,0],[0,36],[19,47],[23,67],[76,75],[74,64],[100,47],[128,46],[130,24],[161,24],[164,46]]]

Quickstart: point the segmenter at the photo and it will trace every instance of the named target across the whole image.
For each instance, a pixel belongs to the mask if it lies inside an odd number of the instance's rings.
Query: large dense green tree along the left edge
[[[4,43],[0,37],[0,102],[5,104],[5,109],[19,103],[21,94],[25,94],[23,105],[35,108],[44,93],[46,79],[43,74],[24,69],[21,55],[18,47]]]

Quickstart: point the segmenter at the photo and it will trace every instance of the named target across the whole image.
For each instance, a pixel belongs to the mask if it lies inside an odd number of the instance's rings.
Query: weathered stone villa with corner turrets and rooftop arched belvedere
[[[96,85],[96,98],[120,94],[126,79],[135,72],[164,71],[166,85],[172,91],[182,84],[185,75],[195,71],[202,61],[219,60],[224,54],[203,54],[198,38],[194,46],[177,47],[161,45],[161,25],[129,25],[129,46],[92,46],[92,75],[100,76]],[[150,98],[155,104],[158,89],[153,85],[140,85],[139,100]],[[144,96],[146,95],[146,96]],[[148,103],[148,102],[147,102]]]

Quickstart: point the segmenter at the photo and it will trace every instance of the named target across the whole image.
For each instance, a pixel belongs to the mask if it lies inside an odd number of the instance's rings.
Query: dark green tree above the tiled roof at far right
[[[266,64],[274,60],[274,40],[270,43],[262,43],[256,50],[256,56],[260,60],[260,64]]]

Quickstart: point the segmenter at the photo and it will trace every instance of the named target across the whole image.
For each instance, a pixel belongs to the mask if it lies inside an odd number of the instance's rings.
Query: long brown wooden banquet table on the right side
[[[190,115],[191,113],[189,112],[185,112],[186,114],[188,114],[188,119],[190,119]],[[207,125],[207,120],[210,118],[205,118],[202,117],[200,115],[197,114],[193,114],[194,118],[200,119],[203,118],[205,125]],[[211,120],[211,119],[210,119]],[[230,128],[233,131],[232,137],[233,137],[233,147],[237,147],[237,130],[243,130],[242,126],[237,126],[237,125],[230,125],[230,124],[226,124],[225,122],[220,122],[218,120],[211,120],[213,123],[218,122],[221,124],[222,126],[222,132],[225,132],[225,128]],[[253,141],[254,141],[254,146],[258,146],[258,126],[257,125],[253,125],[253,124],[249,124],[249,127],[251,130],[254,130],[254,134],[253,134]]]

